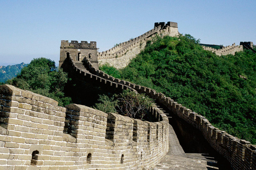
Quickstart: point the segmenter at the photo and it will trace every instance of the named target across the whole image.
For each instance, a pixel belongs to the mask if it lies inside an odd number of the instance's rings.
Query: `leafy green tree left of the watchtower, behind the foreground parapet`
[[[63,88],[67,83],[67,73],[55,66],[55,62],[47,58],[34,58],[21,70],[17,77],[7,83],[24,90],[50,97],[60,106],[70,104],[71,98],[65,97]]]

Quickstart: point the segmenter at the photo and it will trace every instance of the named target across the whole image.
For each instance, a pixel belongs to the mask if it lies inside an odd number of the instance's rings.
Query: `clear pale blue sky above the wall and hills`
[[[204,44],[256,44],[255,9],[256,0],[0,0],[0,65],[38,57],[58,64],[61,40],[97,41],[102,52],[167,21]]]

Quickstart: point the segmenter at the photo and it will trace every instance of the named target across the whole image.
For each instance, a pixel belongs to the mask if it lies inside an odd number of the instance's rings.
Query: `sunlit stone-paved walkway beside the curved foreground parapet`
[[[206,154],[186,154],[180,146],[177,135],[169,125],[169,152],[154,170],[165,169],[219,169],[217,161]]]

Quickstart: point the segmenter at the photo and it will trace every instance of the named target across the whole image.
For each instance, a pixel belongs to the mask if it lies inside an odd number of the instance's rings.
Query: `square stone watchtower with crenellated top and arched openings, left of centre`
[[[65,67],[65,61],[67,58],[72,58],[74,62],[83,62],[85,58],[90,61],[95,69],[98,69],[98,55],[97,55],[97,44],[95,41],[71,41],[61,40],[60,45],[60,61],[59,67]]]

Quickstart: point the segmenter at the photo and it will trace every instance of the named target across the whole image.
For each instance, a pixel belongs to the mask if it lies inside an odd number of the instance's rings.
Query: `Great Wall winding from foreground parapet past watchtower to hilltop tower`
[[[156,23],[159,30],[143,38],[143,43],[155,33],[166,32],[169,24]],[[178,31],[178,27],[173,28]],[[53,99],[4,84],[0,86],[1,170],[218,169],[210,157],[183,151],[175,127],[170,124],[173,121],[201,135],[199,139],[206,147],[227,160],[225,164],[233,169],[256,169],[256,147],[250,142],[215,128],[205,117],[164,94],[98,70],[97,57],[101,53],[95,53],[94,41],[83,42],[81,48],[77,41],[73,41],[74,46],[61,41],[60,66],[81,82],[113,90],[130,89],[155,99],[156,105],[150,109],[154,122],[107,114],[78,104],[59,107]],[[63,43],[67,43],[65,47]],[[137,48],[140,43],[121,44],[106,52],[106,57],[121,58],[116,54],[125,56],[127,48],[133,51],[132,45]],[[185,133],[186,128],[178,128]],[[195,138],[197,134],[192,135]]]

